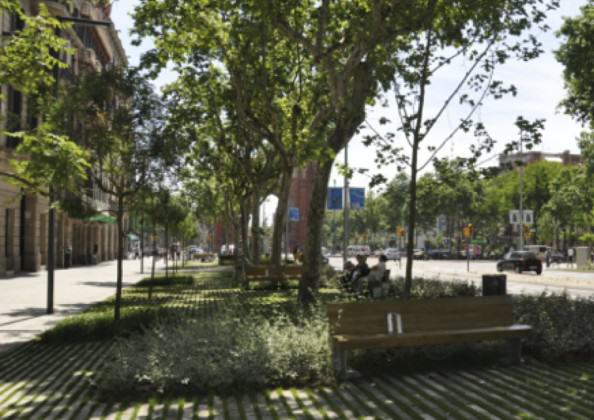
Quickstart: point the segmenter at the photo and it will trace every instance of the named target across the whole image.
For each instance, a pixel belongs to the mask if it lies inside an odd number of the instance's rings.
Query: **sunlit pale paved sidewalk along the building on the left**
[[[150,258],[145,258],[140,274],[140,260],[124,261],[124,287],[150,273]],[[162,266],[162,260],[157,264]],[[55,313],[46,315],[47,272],[0,278],[0,351],[25,342],[49,329],[67,315],[80,312],[90,304],[115,294],[116,261],[96,266],[56,270]]]

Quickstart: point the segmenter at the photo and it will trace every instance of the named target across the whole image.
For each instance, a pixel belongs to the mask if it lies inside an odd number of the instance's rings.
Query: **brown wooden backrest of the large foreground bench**
[[[398,313],[402,331],[445,331],[513,324],[509,296],[384,300],[328,305],[332,334],[385,334],[387,316]]]

